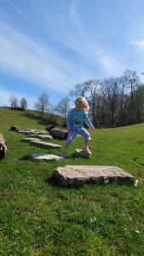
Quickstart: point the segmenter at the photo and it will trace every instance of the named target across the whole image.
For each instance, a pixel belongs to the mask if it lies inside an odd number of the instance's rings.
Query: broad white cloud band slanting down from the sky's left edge
[[[65,73],[70,63],[26,34],[0,23],[0,67],[18,77],[52,90],[66,90],[72,78]]]

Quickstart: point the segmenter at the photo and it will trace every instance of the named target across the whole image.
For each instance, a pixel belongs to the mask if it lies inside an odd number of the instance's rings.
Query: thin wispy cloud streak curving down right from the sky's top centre
[[[69,15],[72,23],[77,26],[78,30],[75,34],[66,35],[63,44],[67,44],[70,48],[77,51],[79,55],[83,55],[89,61],[94,61],[95,64],[99,64],[106,74],[111,75],[113,72],[122,72],[124,64],[120,63],[114,55],[108,53],[106,49],[103,49],[97,44],[93,38],[90,38],[89,33],[84,29],[84,26],[78,19],[77,3],[76,0],[72,0]],[[77,40],[73,40],[72,38],[77,38]],[[59,39],[61,40],[61,38]]]

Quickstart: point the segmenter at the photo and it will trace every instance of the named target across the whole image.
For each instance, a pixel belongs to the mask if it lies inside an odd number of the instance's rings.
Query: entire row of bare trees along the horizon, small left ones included
[[[144,122],[144,84],[141,84],[137,73],[130,69],[125,69],[119,77],[110,77],[102,81],[90,79],[75,84],[68,95],[55,105],[49,101],[47,93],[42,93],[35,102],[34,108],[41,119],[58,124],[61,116],[66,124],[66,115],[78,96],[84,96],[89,101],[89,114],[96,127],[115,127]],[[20,100],[20,106],[15,96],[11,96],[9,102],[11,108],[22,110],[27,108],[26,98]]]

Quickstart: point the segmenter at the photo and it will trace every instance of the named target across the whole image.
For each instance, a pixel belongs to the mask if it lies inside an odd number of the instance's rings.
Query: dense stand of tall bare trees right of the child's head
[[[135,71],[120,77],[76,84],[71,96],[85,96],[95,126],[113,127],[144,122],[144,85]]]

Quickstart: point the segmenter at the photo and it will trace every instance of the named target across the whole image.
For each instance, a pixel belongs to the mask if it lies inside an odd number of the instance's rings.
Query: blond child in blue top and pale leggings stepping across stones
[[[89,132],[84,128],[84,122],[93,131],[95,131],[95,127],[89,120],[87,110],[89,110],[89,103],[87,100],[84,97],[78,97],[75,102],[75,108],[72,108],[67,115],[66,126],[68,128],[68,137],[60,152],[60,156],[66,156],[66,149],[78,134],[84,137],[84,152],[91,154],[88,147],[91,137],[89,136]]]

